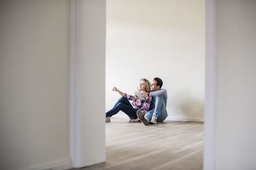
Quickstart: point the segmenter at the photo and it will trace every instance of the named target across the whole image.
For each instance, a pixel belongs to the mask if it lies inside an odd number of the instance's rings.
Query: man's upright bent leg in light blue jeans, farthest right
[[[164,119],[168,116],[167,111],[164,104],[163,97],[155,97],[156,103],[154,108],[154,113],[152,116],[157,117],[157,122],[163,122]]]

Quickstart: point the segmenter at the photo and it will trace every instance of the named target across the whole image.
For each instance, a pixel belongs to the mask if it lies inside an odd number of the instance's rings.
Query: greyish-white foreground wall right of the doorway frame
[[[218,8],[216,167],[256,169],[256,1]]]

